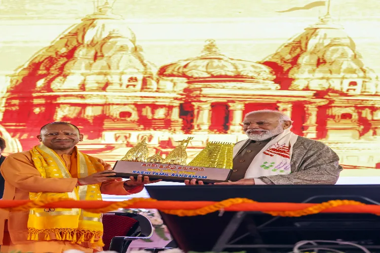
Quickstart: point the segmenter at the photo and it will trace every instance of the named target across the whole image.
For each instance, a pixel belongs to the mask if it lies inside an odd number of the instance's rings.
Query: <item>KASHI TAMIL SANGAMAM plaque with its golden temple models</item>
[[[115,177],[148,176],[150,179],[162,179],[164,181],[183,182],[186,179],[202,180],[205,183],[225,182],[231,172],[233,164],[233,143],[209,142],[206,147],[186,165],[186,148],[194,139],[176,141],[179,145],[172,150],[165,159],[160,151],[149,156],[146,138],[127,154],[117,161],[113,170]]]

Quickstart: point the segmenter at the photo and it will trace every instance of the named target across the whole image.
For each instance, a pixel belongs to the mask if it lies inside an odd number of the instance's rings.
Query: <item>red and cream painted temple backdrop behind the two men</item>
[[[68,121],[80,149],[115,162],[147,137],[164,156],[192,136],[245,139],[278,109],[340,157],[380,176],[377,0],[0,1],[0,135],[6,153]],[[153,155],[153,153],[151,154]]]

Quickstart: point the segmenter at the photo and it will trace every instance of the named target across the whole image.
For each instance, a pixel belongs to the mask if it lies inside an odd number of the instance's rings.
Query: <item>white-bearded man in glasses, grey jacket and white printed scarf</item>
[[[248,139],[234,147],[229,182],[215,185],[333,185],[343,168],[325,144],[295,135],[292,121],[279,111],[259,110],[245,115]],[[203,185],[185,180],[186,185]]]

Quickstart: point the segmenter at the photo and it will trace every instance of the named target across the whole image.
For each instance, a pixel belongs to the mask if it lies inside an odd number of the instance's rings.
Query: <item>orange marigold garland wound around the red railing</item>
[[[72,200],[72,199],[47,198],[44,200],[32,200],[26,204],[22,204],[17,207],[3,208],[3,209],[12,210],[12,211],[23,211],[23,210],[29,210],[30,208],[42,207],[44,205],[58,202],[58,201],[63,201],[63,200]],[[132,198],[125,201],[110,202],[111,204],[102,208],[91,208],[91,209],[84,208],[84,209],[92,213],[108,213],[108,212],[113,212],[119,208],[128,208],[129,206],[137,202],[152,202],[152,201],[157,201],[157,200],[152,199],[152,198]],[[241,203],[259,203],[259,202],[251,200],[251,199],[247,199],[247,198],[230,198],[230,199],[219,201],[215,204],[207,205],[207,206],[193,209],[193,210],[161,209],[161,211],[163,213],[176,215],[176,216],[198,216],[198,215],[207,215],[210,213],[214,213],[214,212],[217,212],[218,210],[223,210],[226,207],[230,207],[230,206],[241,204]],[[359,201],[354,201],[354,200],[330,200],[327,202],[315,204],[313,206],[300,209],[300,210],[295,210],[295,211],[263,212],[263,213],[270,214],[272,216],[300,217],[300,216],[318,214],[322,212],[322,210],[324,209],[328,209],[328,208],[332,208],[336,206],[342,206],[342,205],[365,205],[365,204]],[[380,214],[377,214],[377,215],[380,215]]]

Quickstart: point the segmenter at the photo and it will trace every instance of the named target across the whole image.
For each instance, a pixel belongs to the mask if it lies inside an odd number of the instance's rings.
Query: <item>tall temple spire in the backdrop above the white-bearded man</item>
[[[354,40],[329,14],[287,41],[263,64],[275,70],[283,89],[374,94],[378,86],[378,77],[362,62]]]

